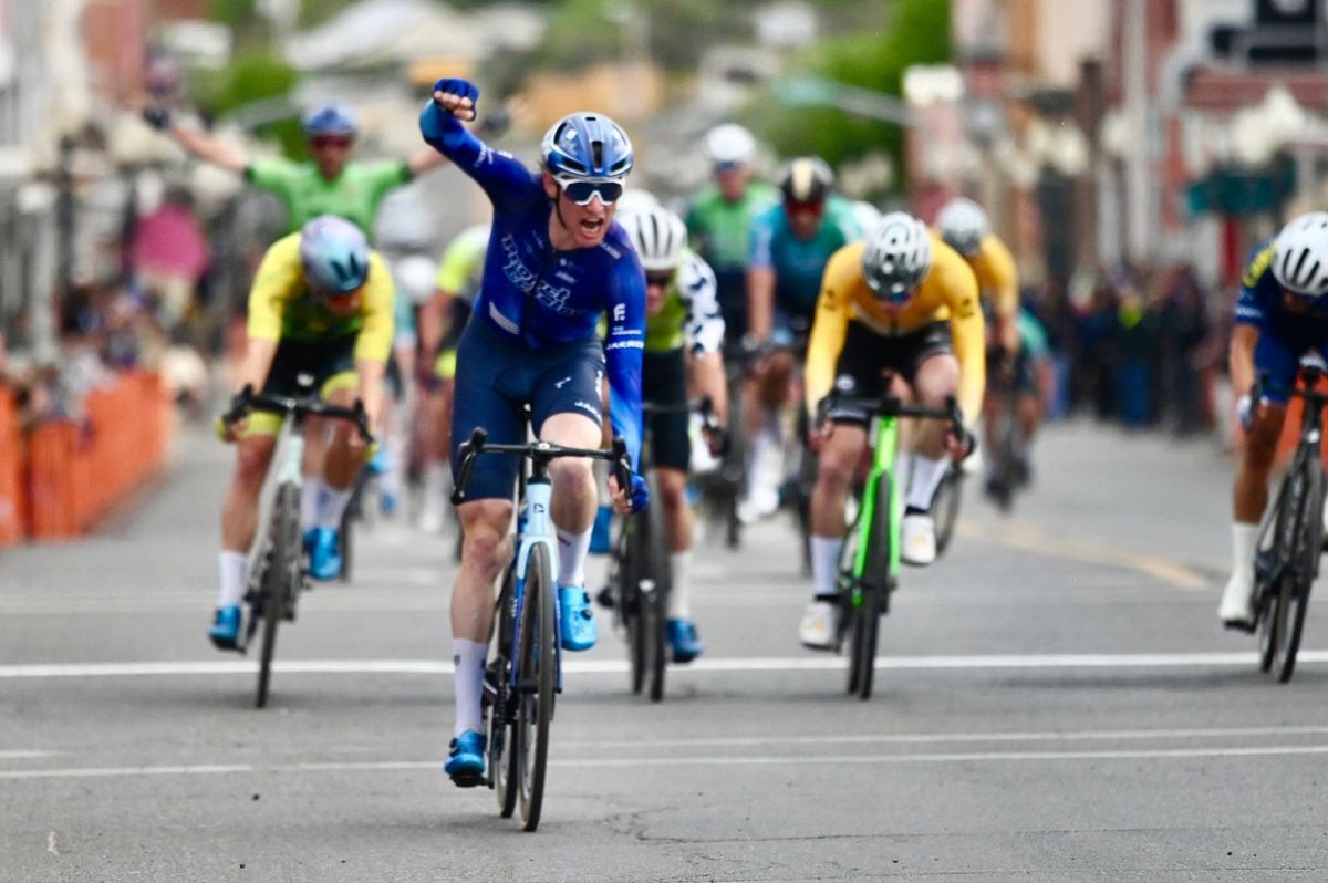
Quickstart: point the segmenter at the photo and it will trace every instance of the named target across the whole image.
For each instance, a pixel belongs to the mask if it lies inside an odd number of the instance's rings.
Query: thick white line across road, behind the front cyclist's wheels
[[[1328,651],[1300,651],[1297,664],[1328,663]],[[1254,665],[1256,656],[1243,653],[1049,653],[992,656],[882,656],[878,671],[904,669],[1073,669],[1073,668],[1197,668]],[[687,667],[669,669],[672,675],[697,672],[833,672],[842,671],[841,656],[797,657],[732,657],[701,659]],[[252,675],[258,663],[52,663],[0,665],[0,680],[44,677],[165,677],[199,675]],[[283,675],[450,675],[453,665],[444,660],[278,660],[274,671]],[[567,675],[624,675],[627,660],[567,660]]]

